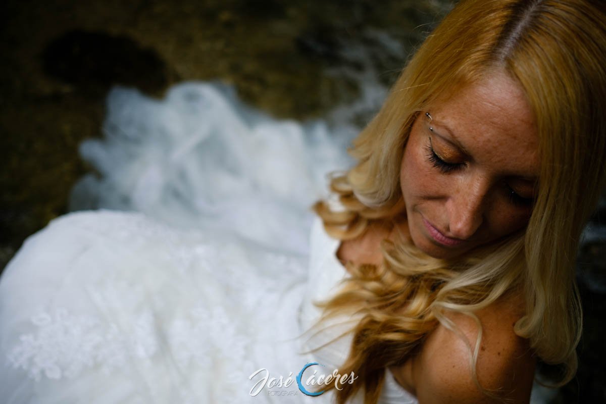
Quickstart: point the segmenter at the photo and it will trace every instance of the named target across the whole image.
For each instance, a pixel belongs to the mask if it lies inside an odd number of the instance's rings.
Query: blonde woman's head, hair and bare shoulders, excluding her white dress
[[[605,34],[599,2],[463,1],[405,68],[332,182],[344,211],[316,206],[352,273],[325,307],[362,314],[339,402],[376,402],[386,366],[429,403],[527,402],[537,359],[571,379]]]

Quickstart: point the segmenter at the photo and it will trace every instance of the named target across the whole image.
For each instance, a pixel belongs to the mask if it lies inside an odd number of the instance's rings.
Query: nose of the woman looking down
[[[484,222],[487,187],[481,181],[458,184],[448,198],[448,231],[457,239],[473,236]]]

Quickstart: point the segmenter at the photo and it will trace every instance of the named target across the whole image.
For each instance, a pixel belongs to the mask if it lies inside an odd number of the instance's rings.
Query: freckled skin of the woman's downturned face
[[[524,179],[538,176],[539,156],[533,114],[519,85],[497,74],[462,88],[430,113],[435,132],[419,114],[401,165],[407,230],[416,247],[450,258],[525,227],[531,209],[512,204],[508,193],[511,188],[532,192]],[[441,157],[464,167],[442,173],[428,162],[430,137]],[[465,241],[456,246],[436,242],[424,219],[444,236]]]

